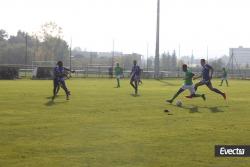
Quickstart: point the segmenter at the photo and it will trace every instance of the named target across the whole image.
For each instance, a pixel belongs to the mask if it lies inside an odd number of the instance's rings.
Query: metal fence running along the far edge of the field
[[[18,69],[18,75],[17,79],[22,78],[34,78],[34,70],[37,68],[37,66],[25,66],[25,65],[0,65],[0,75],[1,73],[1,67],[9,67],[13,68],[16,67]],[[51,67],[48,67],[51,69]],[[74,78],[111,78],[114,77],[114,71],[112,71],[112,74],[109,70],[110,66],[103,66],[103,65],[88,65],[88,66],[82,66],[82,67],[72,67],[72,69],[75,70],[75,73],[72,73],[71,76]],[[195,74],[200,74],[200,69],[193,69],[192,70]],[[123,77],[129,78],[130,76],[130,69],[124,69],[123,71]],[[160,78],[182,78],[184,76],[184,73],[181,70],[174,70],[174,71],[160,71]],[[220,78],[222,76],[221,71],[214,71],[214,77]],[[0,76],[1,78],[1,76]],[[148,71],[145,69],[142,69],[142,75],[141,78],[150,79],[154,78],[154,71],[149,69]],[[250,69],[240,69],[235,71],[228,71],[228,78],[235,78],[235,79],[250,79]]]

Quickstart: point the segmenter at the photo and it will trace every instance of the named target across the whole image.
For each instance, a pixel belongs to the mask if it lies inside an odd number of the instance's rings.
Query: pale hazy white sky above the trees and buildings
[[[36,32],[48,21],[63,28],[73,47],[89,51],[155,51],[157,0],[3,0],[0,29]],[[250,47],[250,0],[161,0],[160,51],[181,56],[228,54]]]

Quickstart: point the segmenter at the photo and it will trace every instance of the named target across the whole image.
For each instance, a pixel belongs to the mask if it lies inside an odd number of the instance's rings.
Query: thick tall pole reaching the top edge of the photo
[[[159,37],[160,37],[160,0],[157,0],[157,25],[156,25],[156,47],[155,47],[155,72],[154,72],[155,79],[159,79],[159,73],[160,73]]]

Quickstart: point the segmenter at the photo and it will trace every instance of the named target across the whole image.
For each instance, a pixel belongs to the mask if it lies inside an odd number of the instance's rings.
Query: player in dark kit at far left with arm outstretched
[[[67,76],[67,72],[74,72],[74,71],[71,71],[70,69],[63,67],[63,62],[58,61],[57,67],[54,68],[54,79],[53,79],[54,89],[53,89],[52,100],[55,99],[60,87],[62,87],[62,89],[65,91],[66,99],[69,100],[70,91],[68,90],[64,79],[64,77]]]

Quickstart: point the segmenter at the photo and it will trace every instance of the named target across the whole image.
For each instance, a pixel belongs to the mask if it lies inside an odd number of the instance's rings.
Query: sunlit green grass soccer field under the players
[[[67,80],[51,102],[52,81],[0,81],[0,166],[249,167],[250,158],[216,158],[217,144],[250,144],[250,81],[231,80],[224,99],[165,102],[183,80],[143,80],[134,97],[128,80]],[[170,112],[164,112],[168,109]]]

